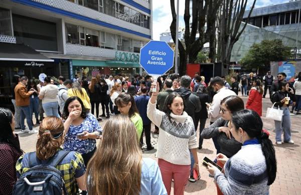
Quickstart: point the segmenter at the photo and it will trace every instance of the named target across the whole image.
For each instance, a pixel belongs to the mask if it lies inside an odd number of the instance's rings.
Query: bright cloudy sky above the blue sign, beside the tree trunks
[[[175,0],[177,4],[177,0]],[[179,0],[179,27],[184,26],[185,0]],[[177,9],[177,5],[175,5]],[[160,40],[160,33],[170,31],[172,22],[170,0],[153,0],[153,35],[154,40]]]

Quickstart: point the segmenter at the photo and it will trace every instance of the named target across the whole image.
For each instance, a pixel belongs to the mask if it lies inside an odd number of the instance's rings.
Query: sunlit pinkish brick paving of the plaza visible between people
[[[246,102],[248,97],[242,97]],[[269,98],[263,98],[263,108],[262,108],[262,120],[264,128],[268,129],[270,132],[270,139],[272,140],[277,157],[277,175],[276,180],[270,186],[270,194],[284,195],[284,194],[301,194],[301,162],[299,160],[301,154],[301,115],[291,115],[291,129],[292,129],[292,139],[294,144],[284,143],[282,145],[275,145],[275,132],[274,132],[274,121],[266,119],[264,116],[266,114],[267,107],[272,104]],[[101,109],[100,109],[101,110]],[[34,119],[35,120],[35,119]],[[100,125],[105,124],[106,119],[100,122]],[[34,121],[35,122],[35,121]],[[206,123],[206,127],[209,125],[209,121]],[[152,127],[152,131],[155,127]],[[16,131],[18,132],[18,131]],[[197,131],[199,137],[199,130]],[[19,134],[21,148],[25,152],[30,152],[35,150],[35,144],[37,140],[36,134]],[[144,157],[152,157],[157,159],[155,153],[157,151],[157,141],[158,134],[152,133],[152,142],[155,149],[151,151],[143,151]],[[145,139],[144,139],[145,143]],[[203,149],[198,149],[199,160],[203,159],[205,156],[213,159],[215,157],[216,150],[214,148],[211,139],[204,139]],[[213,178],[208,176],[208,171],[200,165],[201,179],[195,183],[188,182],[185,190],[185,194],[216,194],[216,187],[213,182]],[[172,193],[173,194],[173,189]]]

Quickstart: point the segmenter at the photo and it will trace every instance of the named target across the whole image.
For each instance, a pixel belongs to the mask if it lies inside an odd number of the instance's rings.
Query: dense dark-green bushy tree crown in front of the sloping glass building
[[[248,53],[240,60],[247,68],[267,68],[270,61],[281,61],[291,57],[290,48],[285,47],[280,39],[262,40],[254,43]]]

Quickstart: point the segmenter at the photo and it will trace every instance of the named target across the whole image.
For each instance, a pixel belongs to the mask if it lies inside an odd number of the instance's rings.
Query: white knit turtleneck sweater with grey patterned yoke
[[[156,109],[156,103],[148,101],[147,117],[160,127],[157,157],[173,164],[190,165],[189,149],[198,147],[193,120],[185,111],[171,116],[172,121]]]

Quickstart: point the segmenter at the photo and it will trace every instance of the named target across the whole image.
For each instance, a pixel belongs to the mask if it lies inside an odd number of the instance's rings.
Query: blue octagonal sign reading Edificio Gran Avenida
[[[174,65],[174,50],[165,41],[150,40],[140,49],[140,65],[150,75],[162,75]]]

